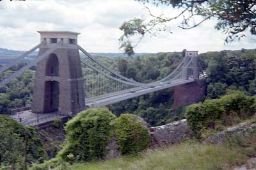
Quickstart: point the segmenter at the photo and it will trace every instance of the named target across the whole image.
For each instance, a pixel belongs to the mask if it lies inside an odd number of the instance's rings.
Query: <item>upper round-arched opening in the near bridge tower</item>
[[[50,54],[47,58],[45,75],[59,76],[59,60],[54,53]]]

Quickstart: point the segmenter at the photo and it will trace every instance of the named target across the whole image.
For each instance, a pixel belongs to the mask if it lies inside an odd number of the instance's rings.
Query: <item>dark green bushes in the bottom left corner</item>
[[[0,115],[0,169],[9,166],[24,169],[26,154],[27,162],[43,161],[47,157],[37,131]]]

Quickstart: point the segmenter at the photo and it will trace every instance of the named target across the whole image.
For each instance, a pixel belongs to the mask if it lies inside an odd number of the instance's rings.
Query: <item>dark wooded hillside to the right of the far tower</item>
[[[207,98],[218,98],[238,89],[255,95],[255,50],[223,50],[200,54],[200,65],[207,73]]]

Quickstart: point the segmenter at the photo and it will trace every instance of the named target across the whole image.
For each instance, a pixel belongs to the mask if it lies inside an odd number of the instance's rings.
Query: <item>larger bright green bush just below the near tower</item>
[[[68,162],[102,158],[106,153],[106,144],[113,135],[115,118],[106,108],[90,108],[79,112],[67,122],[66,144],[58,156]]]

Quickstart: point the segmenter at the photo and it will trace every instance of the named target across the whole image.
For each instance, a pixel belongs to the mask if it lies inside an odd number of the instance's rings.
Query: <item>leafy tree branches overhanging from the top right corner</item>
[[[182,19],[180,28],[192,29],[199,26],[207,19],[216,19],[218,23],[215,29],[226,33],[225,42],[232,42],[245,36],[246,29],[250,29],[252,35],[256,35],[256,10],[255,0],[136,0],[147,8],[150,16],[149,21],[135,18],[128,20],[120,26],[124,34],[120,37],[120,48],[127,54],[133,54],[133,48],[140,43],[141,38],[147,33],[156,35],[157,31],[168,31],[168,24],[175,19]],[[167,6],[172,10],[177,8],[180,13],[176,16],[155,15],[151,12],[148,4],[154,6]],[[198,17],[199,16],[199,17]],[[201,20],[198,20],[201,19]],[[138,37],[137,43],[132,45],[132,38]]]

